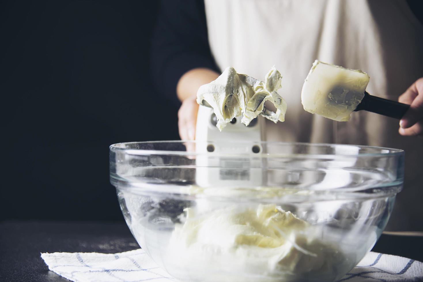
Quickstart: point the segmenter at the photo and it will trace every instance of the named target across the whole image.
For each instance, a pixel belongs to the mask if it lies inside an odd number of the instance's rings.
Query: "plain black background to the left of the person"
[[[0,221],[123,220],[108,147],[179,139],[148,75],[156,14],[156,0],[0,1]]]

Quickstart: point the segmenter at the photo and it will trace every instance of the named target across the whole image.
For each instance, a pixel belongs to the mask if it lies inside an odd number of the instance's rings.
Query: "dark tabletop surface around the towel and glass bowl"
[[[124,222],[1,222],[0,281],[69,281],[41,252],[125,252],[139,248]],[[423,261],[423,237],[382,234],[375,252]]]

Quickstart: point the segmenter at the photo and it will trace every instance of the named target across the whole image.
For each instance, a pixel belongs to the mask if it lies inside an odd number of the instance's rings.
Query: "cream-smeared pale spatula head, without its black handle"
[[[363,71],[316,60],[302,86],[302,106],[312,114],[348,121],[363,100],[369,79]]]

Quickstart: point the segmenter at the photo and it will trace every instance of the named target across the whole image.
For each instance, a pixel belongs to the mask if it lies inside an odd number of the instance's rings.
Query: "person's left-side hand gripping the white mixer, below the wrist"
[[[192,95],[182,101],[178,111],[178,129],[181,140],[195,139],[195,125],[197,123],[197,95]]]

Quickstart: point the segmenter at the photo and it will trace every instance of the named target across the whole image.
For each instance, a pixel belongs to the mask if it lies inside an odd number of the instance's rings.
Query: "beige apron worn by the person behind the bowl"
[[[370,76],[367,91],[397,100],[423,76],[423,26],[403,0],[205,0],[212,54],[220,69],[264,79],[272,65],[286,121],[266,121],[266,138],[404,149],[404,190],[388,230],[423,231],[423,138],[402,137],[398,120],[364,111],[349,122],[305,112],[301,88],[318,59]]]

